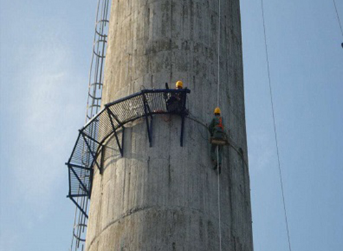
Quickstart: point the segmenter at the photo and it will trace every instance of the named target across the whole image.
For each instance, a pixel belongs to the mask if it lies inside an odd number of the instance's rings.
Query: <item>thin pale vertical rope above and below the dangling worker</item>
[[[219,95],[220,95],[220,23],[221,23],[221,1],[218,1],[218,43],[217,43],[217,63],[218,63],[218,79],[217,79],[217,107],[219,107]],[[219,163],[219,145],[217,145],[217,169],[218,169],[218,228],[219,228],[219,250],[222,251],[222,220],[221,220],[221,208],[220,208],[220,169],[221,169],[221,163]]]

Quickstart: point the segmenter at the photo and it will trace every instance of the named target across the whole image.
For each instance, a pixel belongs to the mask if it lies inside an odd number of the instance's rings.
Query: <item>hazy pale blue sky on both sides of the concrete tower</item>
[[[292,250],[343,246],[343,43],[333,1],[264,0]],[[343,1],[336,0],[343,19]],[[97,1],[0,0],[0,251],[68,250]],[[288,250],[261,1],[241,1],[255,251]]]

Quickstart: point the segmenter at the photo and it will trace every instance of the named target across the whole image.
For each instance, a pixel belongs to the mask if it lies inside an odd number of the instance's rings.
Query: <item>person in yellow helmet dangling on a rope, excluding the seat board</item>
[[[224,134],[224,125],[223,125],[223,119],[220,116],[220,108],[217,107],[214,110],[214,115],[215,117],[212,119],[210,125],[209,125],[209,131],[211,134],[211,138],[214,139],[224,139],[225,134]],[[218,147],[219,151],[219,158],[217,163],[217,154],[216,154],[216,149]],[[211,160],[213,163],[213,169],[217,169],[217,167],[222,164],[222,152],[223,152],[223,146],[222,145],[217,145],[217,144],[211,144]]]

